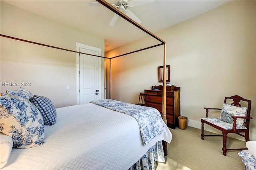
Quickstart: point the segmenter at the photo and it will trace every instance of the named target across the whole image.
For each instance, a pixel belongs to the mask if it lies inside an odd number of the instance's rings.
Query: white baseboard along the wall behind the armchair
[[[188,126],[189,127],[194,127],[194,128],[199,128],[201,129],[201,122],[198,122],[198,121],[194,121],[194,120],[190,120],[188,119]],[[222,132],[216,128],[213,128],[213,127],[210,127],[206,124],[204,124],[204,130],[208,131],[208,132],[213,132],[213,133],[216,133],[216,134],[222,134]],[[238,139],[238,140],[243,140],[245,141],[245,138],[242,137],[242,136],[239,136],[237,134],[231,134],[229,133],[228,134],[229,137],[231,138],[235,138],[235,139]],[[252,134],[250,133],[250,140],[256,140],[256,134]]]

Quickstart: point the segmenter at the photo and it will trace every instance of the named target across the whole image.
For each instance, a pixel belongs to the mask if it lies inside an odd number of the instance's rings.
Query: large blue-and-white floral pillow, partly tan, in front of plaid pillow
[[[0,96],[0,132],[12,137],[13,147],[31,148],[44,144],[44,121],[40,111],[28,100]]]

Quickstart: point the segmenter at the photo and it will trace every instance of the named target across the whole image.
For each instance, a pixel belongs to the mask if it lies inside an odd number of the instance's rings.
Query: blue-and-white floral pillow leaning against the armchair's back
[[[238,107],[238,106],[232,106],[224,103],[222,105],[222,110],[220,113],[220,119],[222,119],[221,115],[224,113],[228,113],[230,115],[234,116],[245,116],[246,115],[247,108],[246,107]],[[238,118],[236,119],[236,125],[243,126],[244,125],[244,119]]]

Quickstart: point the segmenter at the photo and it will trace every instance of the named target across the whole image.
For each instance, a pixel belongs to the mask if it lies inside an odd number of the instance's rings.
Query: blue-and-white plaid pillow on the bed
[[[57,113],[52,101],[44,96],[34,95],[31,102],[41,112],[44,125],[53,125],[56,122]]]

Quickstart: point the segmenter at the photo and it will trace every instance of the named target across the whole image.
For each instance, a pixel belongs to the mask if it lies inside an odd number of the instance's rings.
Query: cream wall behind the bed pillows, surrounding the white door
[[[1,34],[76,51],[76,42],[102,49],[104,39],[64,26],[1,2]],[[35,95],[50,98],[55,107],[76,105],[76,53],[1,37],[0,93],[2,82],[31,82],[25,87]],[[104,91],[104,59],[101,91]],[[66,86],[70,85],[70,90]],[[104,93],[102,93],[104,99]]]

